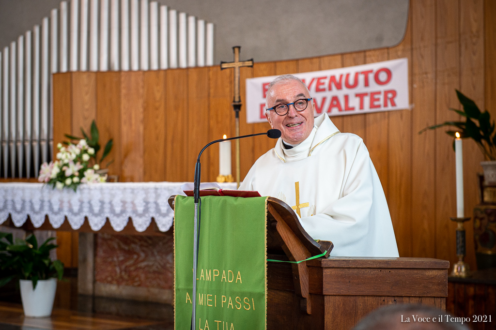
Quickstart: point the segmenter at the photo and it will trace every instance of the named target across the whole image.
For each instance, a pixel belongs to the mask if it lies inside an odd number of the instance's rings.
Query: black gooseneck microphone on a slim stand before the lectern
[[[229,140],[237,140],[250,136],[257,135],[267,135],[271,139],[277,139],[281,136],[281,131],[278,129],[269,129],[264,133],[248,134],[242,136],[235,136],[228,139],[219,139],[210,142],[203,149],[201,149],[198,154],[198,159],[196,160],[196,166],[194,167],[194,186],[193,186],[193,196],[194,196],[194,225],[193,225],[193,292],[191,297],[192,313],[191,313],[191,330],[195,330],[196,325],[196,270],[198,268],[198,241],[200,238],[200,218],[201,218],[201,199],[200,199],[200,156],[203,151],[210,145]]]

